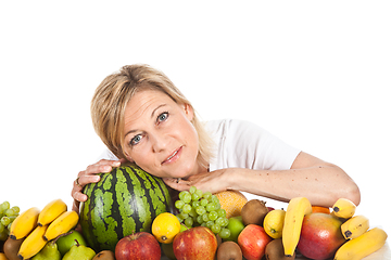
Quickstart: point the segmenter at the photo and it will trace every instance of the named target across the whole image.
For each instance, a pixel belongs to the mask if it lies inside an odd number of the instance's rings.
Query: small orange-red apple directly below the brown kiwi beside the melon
[[[248,260],[260,260],[265,255],[266,245],[272,242],[264,227],[256,224],[247,225],[238,236],[238,244]]]

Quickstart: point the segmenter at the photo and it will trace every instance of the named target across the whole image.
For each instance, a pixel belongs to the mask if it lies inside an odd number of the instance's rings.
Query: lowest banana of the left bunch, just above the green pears
[[[47,244],[43,240],[43,234],[47,230],[48,225],[37,226],[22,243],[17,257],[24,260],[37,255]]]

